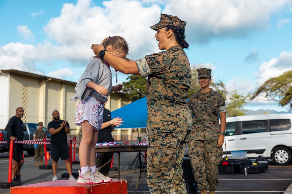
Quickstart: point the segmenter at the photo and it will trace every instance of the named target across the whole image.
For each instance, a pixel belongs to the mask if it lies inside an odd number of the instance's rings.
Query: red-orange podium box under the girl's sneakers
[[[10,188],[11,194],[127,194],[126,180],[112,180],[101,184],[78,184],[73,180],[59,180]]]

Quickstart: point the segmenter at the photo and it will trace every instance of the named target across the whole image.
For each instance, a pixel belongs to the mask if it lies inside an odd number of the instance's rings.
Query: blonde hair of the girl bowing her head
[[[102,46],[107,48],[108,46],[112,46],[114,52],[126,53],[129,52],[129,46],[126,40],[120,36],[109,36],[102,41]]]

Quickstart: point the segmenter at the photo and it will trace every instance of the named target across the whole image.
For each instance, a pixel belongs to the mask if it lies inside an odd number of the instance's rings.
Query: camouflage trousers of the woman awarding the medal
[[[148,136],[147,183],[152,194],[187,194],[182,163],[191,131]]]

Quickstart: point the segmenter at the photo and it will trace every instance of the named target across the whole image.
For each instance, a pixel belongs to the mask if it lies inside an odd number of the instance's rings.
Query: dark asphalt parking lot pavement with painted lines
[[[128,193],[133,194],[138,178],[139,165],[135,160],[138,152],[121,153],[121,179],[127,180]],[[34,165],[34,157],[24,152],[25,162],[20,170],[22,185],[34,184],[52,181],[53,172],[51,169],[40,170]],[[79,161],[76,154],[76,161]],[[0,153],[0,182],[8,181],[8,152]],[[117,153],[114,153],[114,166],[117,167]],[[52,164],[52,160],[48,161]],[[131,167],[131,168],[130,168]],[[145,167],[145,165],[142,165]],[[72,172],[78,173],[79,164],[72,165]],[[62,174],[67,173],[64,161],[58,161],[58,180],[66,180],[62,178]],[[117,170],[109,172],[109,176],[117,179]],[[292,164],[286,166],[278,166],[269,163],[267,172],[260,174],[219,174],[219,183],[216,193],[224,194],[246,194],[246,193],[264,193],[264,194],[292,194]],[[10,193],[9,189],[0,188],[0,193]],[[138,185],[137,194],[149,194],[147,186],[146,172],[142,172],[140,183]],[[200,192],[198,192],[200,193]]]

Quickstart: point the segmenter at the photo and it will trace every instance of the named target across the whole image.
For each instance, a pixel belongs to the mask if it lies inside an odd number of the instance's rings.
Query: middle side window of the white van
[[[267,130],[267,120],[242,122],[242,134],[261,133],[265,130]]]

